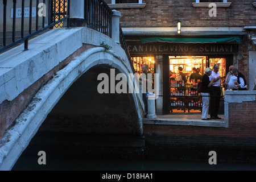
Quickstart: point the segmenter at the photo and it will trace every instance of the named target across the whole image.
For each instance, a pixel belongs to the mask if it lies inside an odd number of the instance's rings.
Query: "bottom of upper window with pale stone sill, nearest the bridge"
[[[146,3],[143,3],[142,0],[112,0],[109,4],[110,8],[142,8],[145,7]]]

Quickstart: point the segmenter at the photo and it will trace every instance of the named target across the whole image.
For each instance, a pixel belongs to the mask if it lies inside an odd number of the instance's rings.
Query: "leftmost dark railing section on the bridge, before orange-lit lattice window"
[[[29,7],[27,8],[25,5],[28,5],[28,3]],[[23,42],[24,50],[27,50],[29,38],[69,18],[69,3],[69,0],[22,0],[18,2],[16,0],[3,0],[1,7],[3,9],[1,12],[3,14],[3,23],[1,23],[3,47],[0,48],[0,53]],[[13,8],[11,9],[11,7]],[[8,22],[9,26],[7,27],[7,20],[10,21],[7,13],[9,14],[10,11],[13,24],[10,27]],[[24,18],[28,18],[28,22],[25,22]],[[7,29],[12,32],[11,43],[6,41]],[[20,32],[20,35],[16,35],[18,32]],[[19,39],[16,39],[17,36]]]

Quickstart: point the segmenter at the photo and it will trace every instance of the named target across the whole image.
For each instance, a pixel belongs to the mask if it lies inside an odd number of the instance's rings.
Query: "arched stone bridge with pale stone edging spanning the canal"
[[[21,45],[2,53],[0,61],[0,169],[14,166],[43,122],[44,131],[141,137],[139,94],[97,91],[100,73],[133,73],[109,36],[56,28],[30,40],[28,51]]]

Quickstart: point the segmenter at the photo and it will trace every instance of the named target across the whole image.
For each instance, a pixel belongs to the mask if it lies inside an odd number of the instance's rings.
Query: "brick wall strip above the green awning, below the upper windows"
[[[117,9],[121,12],[122,27],[170,27],[177,20],[183,26],[226,27],[255,24],[254,0],[233,0],[230,7],[217,7],[217,16],[209,16],[209,7],[193,7],[195,0],[144,0],[142,9]],[[111,3],[107,0],[106,3]]]

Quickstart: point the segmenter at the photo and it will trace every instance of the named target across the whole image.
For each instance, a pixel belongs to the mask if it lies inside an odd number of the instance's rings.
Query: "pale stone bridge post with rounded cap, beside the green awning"
[[[121,13],[117,10],[112,10],[112,39],[115,43],[120,44],[120,29],[119,29],[119,22]]]

